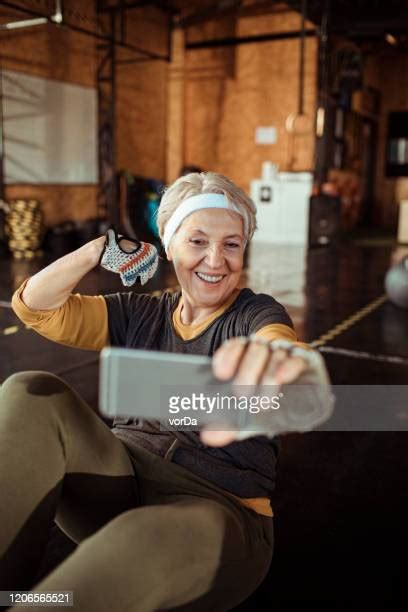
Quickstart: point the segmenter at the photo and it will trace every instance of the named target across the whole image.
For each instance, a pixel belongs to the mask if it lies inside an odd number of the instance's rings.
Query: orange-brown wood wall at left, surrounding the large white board
[[[93,0],[66,3],[67,20],[95,27]],[[78,19],[75,13],[87,17]],[[155,9],[133,11],[128,21],[132,43],[158,53],[167,51],[167,23]],[[23,18],[2,9],[1,21]],[[4,69],[96,86],[97,40],[53,25],[1,32]],[[135,57],[118,50],[120,59]],[[165,174],[165,113],[167,65],[142,62],[117,69],[117,168],[163,178]],[[6,198],[36,198],[43,204],[47,225],[96,215],[96,185],[8,185]]]

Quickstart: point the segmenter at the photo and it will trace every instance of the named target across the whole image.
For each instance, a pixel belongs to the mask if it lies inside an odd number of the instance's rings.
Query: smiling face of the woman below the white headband
[[[194,306],[217,308],[238,285],[243,267],[242,217],[225,209],[202,209],[183,221],[168,258]]]

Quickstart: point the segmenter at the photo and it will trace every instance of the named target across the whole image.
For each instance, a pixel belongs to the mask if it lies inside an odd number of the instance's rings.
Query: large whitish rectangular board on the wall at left
[[[5,182],[98,182],[96,89],[3,71]]]

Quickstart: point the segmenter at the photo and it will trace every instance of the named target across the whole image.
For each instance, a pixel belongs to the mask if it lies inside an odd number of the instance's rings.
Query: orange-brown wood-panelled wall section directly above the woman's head
[[[295,13],[222,20],[190,28],[189,41],[250,36],[300,27]],[[306,39],[305,112],[313,125],[317,41]],[[228,175],[244,189],[270,160],[281,170],[312,170],[314,131],[290,136],[297,112],[299,43],[282,40],[189,50],[185,56],[183,163]],[[274,126],[277,143],[258,145],[255,129]]]

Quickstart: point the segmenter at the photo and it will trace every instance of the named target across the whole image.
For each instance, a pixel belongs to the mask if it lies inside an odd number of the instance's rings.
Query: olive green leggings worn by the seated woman
[[[74,610],[230,610],[272,559],[271,518],[169,460],[131,454],[45,372],[0,388],[0,496],[0,590],[73,591]],[[79,545],[34,585],[54,519]]]

